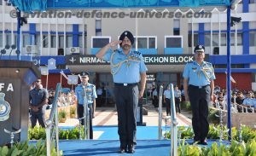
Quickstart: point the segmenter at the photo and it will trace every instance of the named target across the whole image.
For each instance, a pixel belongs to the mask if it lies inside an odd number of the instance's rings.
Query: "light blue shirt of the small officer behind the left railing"
[[[94,84],[87,84],[85,87],[86,90],[86,98],[88,101],[88,105],[91,105],[94,101],[94,99],[97,98],[97,94],[96,94],[96,87]],[[79,105],[84,105],[84,89],[83,89],[83,84],[79,84],[76,88],[75,88],[75,93],[77,95],[77,99],[79,102]]]

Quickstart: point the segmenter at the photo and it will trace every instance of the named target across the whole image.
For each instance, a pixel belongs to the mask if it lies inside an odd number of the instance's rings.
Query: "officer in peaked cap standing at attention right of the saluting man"
[[[212,64],[204,61],[205,47],[197,45],[194,52],[195,61],[188,62],[183,70],[184,95],[192,109],[194,142],[207,145],[208,105],[213,101],[215,75]]]

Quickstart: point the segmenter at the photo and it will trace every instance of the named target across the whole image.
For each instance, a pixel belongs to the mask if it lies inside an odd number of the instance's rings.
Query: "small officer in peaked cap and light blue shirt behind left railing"
[[[75,94],[77,95],[78,101],[78,115],[79,118],[84,117],[84,90],[86,92],[86,99],[89,108],[89,119],[90,119],[90,139],[93,139],[92,130],[92,118],[94,116],[96,108],[96,86],[94,84],[88,83],[89,72],[82,72],[80,74],[81,84],[75,88]],[[84,125],[84,119],[82,119],[81,124]]]

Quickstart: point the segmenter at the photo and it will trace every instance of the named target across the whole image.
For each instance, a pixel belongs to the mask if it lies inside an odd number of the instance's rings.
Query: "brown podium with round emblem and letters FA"
[[[28,92],[40,77],[31,61],[0,61],[0,146],[27,140]],[[18,133],[19,132],[19,133]],[[15,133],[11,138],[10,133]]]

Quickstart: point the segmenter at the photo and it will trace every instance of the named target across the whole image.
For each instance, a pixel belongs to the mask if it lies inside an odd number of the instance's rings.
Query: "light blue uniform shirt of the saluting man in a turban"
[[[104,61],[111,61],[112,51],[108,51],[104,56]],[[129,61],[125,61],[129,59]],[[125,55],[122,49],[116,50],[113,55],[113,64],[116,65],[121,61],[125,61],[120,66],[111,66],[111,70],[116,72],[113,74],[114,83],[133,84],[140,82],[140,73],[146,72],[148,69],[143,61],[143,55],[138,51],[131,50]]]

